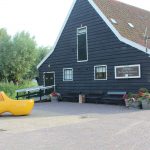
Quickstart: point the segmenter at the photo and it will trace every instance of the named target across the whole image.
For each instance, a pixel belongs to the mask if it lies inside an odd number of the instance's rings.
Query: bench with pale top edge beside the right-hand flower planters
[[[126,91],[108,91],[102,98],[102,103],[125,105],[123,96]]]

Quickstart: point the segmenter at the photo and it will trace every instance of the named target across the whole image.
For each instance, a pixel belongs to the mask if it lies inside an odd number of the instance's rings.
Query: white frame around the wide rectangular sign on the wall
[[[130,76],[130,77],[117,77],[116,69],[117,68],[122,68],[122,67],[139,67],[139,75],[138,76]],[[136,79],[136,78],[141,78],[141,65],[140,64],[135,64],[135,65],[123,65],[123,66],[115,66],[115,79]]]

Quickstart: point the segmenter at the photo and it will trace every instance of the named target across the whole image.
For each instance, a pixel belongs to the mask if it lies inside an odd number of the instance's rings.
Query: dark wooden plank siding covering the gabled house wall
[[[76,29],[87,26],[88,62],[77,62]],[[51,65],[50,69],[48,64]],[[141,64],[140,79],[115,79],[114,66]],[[94,81],[94,66],[107,65],[108,80]],[[73,68],[74,81],[63,82],[63,68]],[[78,0],[51,56],[39,68],[40,83],[43,72],[55,71],[56,90],[60,93],[98,90],[136,91],[150,89],[150,58],[120,42],[87,0]]]

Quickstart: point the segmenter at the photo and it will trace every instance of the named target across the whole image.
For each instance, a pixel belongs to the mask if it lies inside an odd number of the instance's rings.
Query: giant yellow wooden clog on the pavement
[[[0,114],[9,112],[14,116],[29,115],[33,109],[34,100],[13,100],[4,92],[0,92]]]

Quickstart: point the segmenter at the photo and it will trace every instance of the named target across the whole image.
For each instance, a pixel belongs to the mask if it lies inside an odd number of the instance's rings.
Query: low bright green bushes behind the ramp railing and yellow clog
[[[1,82],[0,91],[4,91],[9,97],[16,99],[16,90],[34,86],[37,86],[37,83],[28,80],[23,81],[19,85],[15,85],[13,82],[10,83]]]

